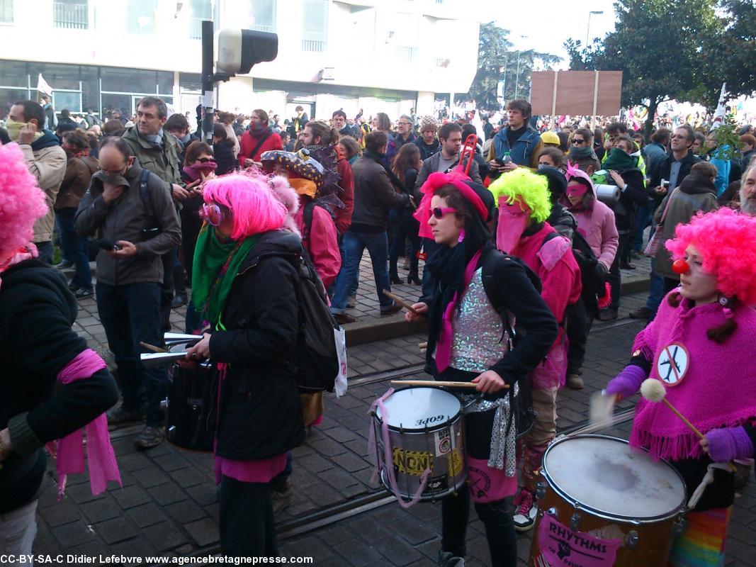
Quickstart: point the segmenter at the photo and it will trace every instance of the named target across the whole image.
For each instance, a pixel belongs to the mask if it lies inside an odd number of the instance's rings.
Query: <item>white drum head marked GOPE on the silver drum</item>
[[[462,410],[460,401],[453,394],[424,386],[397,390],[383,405],[389,412],[389,427],[405,431],[442,426]],[[376,407],[376,415],[383,419],[380,407]]]

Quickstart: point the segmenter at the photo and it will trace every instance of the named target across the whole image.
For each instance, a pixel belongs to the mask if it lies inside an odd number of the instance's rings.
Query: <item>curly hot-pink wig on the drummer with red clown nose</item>
[[[703,269],[717,277],[717,289],[756,305],[756,218],[719,209],[694,216],[687,225],[677,225],[674,240],[665,243],[673,259],[683,258],[692,244],[703,258]]]

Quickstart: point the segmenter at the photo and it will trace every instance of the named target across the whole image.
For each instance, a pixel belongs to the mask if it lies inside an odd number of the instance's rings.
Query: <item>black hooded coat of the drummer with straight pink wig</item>
[[[221,318],[225,330],[210,338],[212,361],[228,363],[215,433],[221,457],[266,459],[305,440],[293,366],[298,276],[289,260],[262,258],[301,250],[296,234],[261,234],[228,294]]]

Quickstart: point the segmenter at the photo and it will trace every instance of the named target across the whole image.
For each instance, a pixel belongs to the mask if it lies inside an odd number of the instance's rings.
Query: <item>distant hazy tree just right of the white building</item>
[[[479,107],[489,110],[499,108],[496,98],[499,81],[503,82],[505,101],[513,100],[515,93],[517,98],[529,98],[532,71],[539,68],[549,69],[561,61],[560,57],[548,53],[513,50],[509,35],[507,29],[500,28],[493,22],[481,24],[478,73],[469,92],[463,98],[474,99]]]

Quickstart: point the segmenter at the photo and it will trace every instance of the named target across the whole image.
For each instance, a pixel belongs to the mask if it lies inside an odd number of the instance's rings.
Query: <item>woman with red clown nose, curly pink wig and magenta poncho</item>
[[[734,499],[727,463],[747,459],[756,446],[756,218],[731,209],[699,213],[678,225],[666,243],[680,287],[635,338],[630,364],[606,392],[634,395],[648,378],[705,434],[699,438],[665,404],[638,402],[630,443],[668,460],[685,479],[688,522],[676,538],[670,565],[721,565]]]

